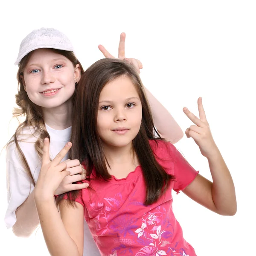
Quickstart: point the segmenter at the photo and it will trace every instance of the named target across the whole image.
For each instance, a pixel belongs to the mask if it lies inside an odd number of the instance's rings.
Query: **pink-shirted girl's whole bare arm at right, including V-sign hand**
[[[206,120],[201,98],[198,99],[200,119],[184,108],[184,112],[197,126],[186,130],[187,137],[192,137],[201,153],[207,157],[213,182],[198,175],[183,192],[199,204],[221,215],[236,214],[236,192],[230,171],[215,144],[209,124]]]

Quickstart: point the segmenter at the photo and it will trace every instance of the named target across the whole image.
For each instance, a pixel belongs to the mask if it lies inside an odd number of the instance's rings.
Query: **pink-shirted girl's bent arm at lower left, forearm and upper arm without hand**
[[[42,198],[35,196],[35,204],[50,255],[82,256],[84,246],[84,208],[67,206],[64,200],[60,204],[59,215],[53,196]],[[62,219],[61,219],[62,218]]]

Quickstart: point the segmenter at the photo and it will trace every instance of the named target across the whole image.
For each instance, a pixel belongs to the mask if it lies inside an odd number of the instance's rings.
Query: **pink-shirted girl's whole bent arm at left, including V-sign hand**
[[[66,229],[54,201],[55,191],[62,180],[71,174],[67,170],[67,163],[61,162],[71,145],[67,143],[50,161],[49,139],[44,139],[42,167],[35,185],[35,205],[44,239],[52,256],[83,255],[83,207],[77,205],[77,208],[73,208],[67,204],[62,207]]]

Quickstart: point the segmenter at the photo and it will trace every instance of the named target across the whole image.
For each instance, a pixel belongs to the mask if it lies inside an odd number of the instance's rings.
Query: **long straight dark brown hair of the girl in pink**
[[[87,177],[92,174],[93,166],[96,177],[108,180],[109,175],[102,141],[97,132],[97,113],[99,108],[99,95],[103,87],[114,79],[126,76],[133,82],[140,96],[142,104],[142,123],[140,131],[132,141],[134,153],[137,155],[143,170],[146,184],[145,205],[153,204],[166,191],[169,181],[174,176],[169,175],[157,162],[148,140],[161,140],[154,128],[154,122],[145,96],[143,84],[137,71],[124,61],[116,59],[102,59],[91,65],[82,75],[77,88],[73,108],[73,126],[70,151],[71,159],[84,162]],[[158,135],[158,138],[154,135]],[[78,192],[68,192],[70,201],[76,198]],[[63,196],[58,198],[61,200]],[[71,202],[72,203],[72,202]]]

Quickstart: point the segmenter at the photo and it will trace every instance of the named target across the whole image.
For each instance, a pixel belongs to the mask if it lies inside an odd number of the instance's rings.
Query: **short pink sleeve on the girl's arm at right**
[[[172,154],[172,159],[174,163],[174,176],[175,181],[173,185],[173,190],[177,194],[186,188],[198,175],[196,171],[188,161],[180,154],[180,152],[175,148],[172,143],[168,143],[170,153]]]

